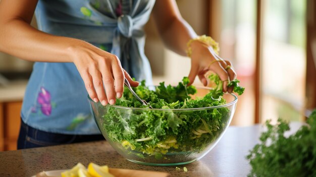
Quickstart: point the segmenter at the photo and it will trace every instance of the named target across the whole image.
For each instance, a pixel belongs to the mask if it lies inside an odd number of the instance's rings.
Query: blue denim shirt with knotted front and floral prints
[[[132,77],[138,81],[145,79],[151,85],[150,65],[144,55],[143,26],[155,1],[122,0],[123,7],[118,9],[119,2],[39,0],[35,10],[38,29],[82,39],[112,52],[119,56],[122,67]],[[32,128],[49,133],[99,134],[87,95],[73,63],[36,62],[23,99],[22,120]]]

